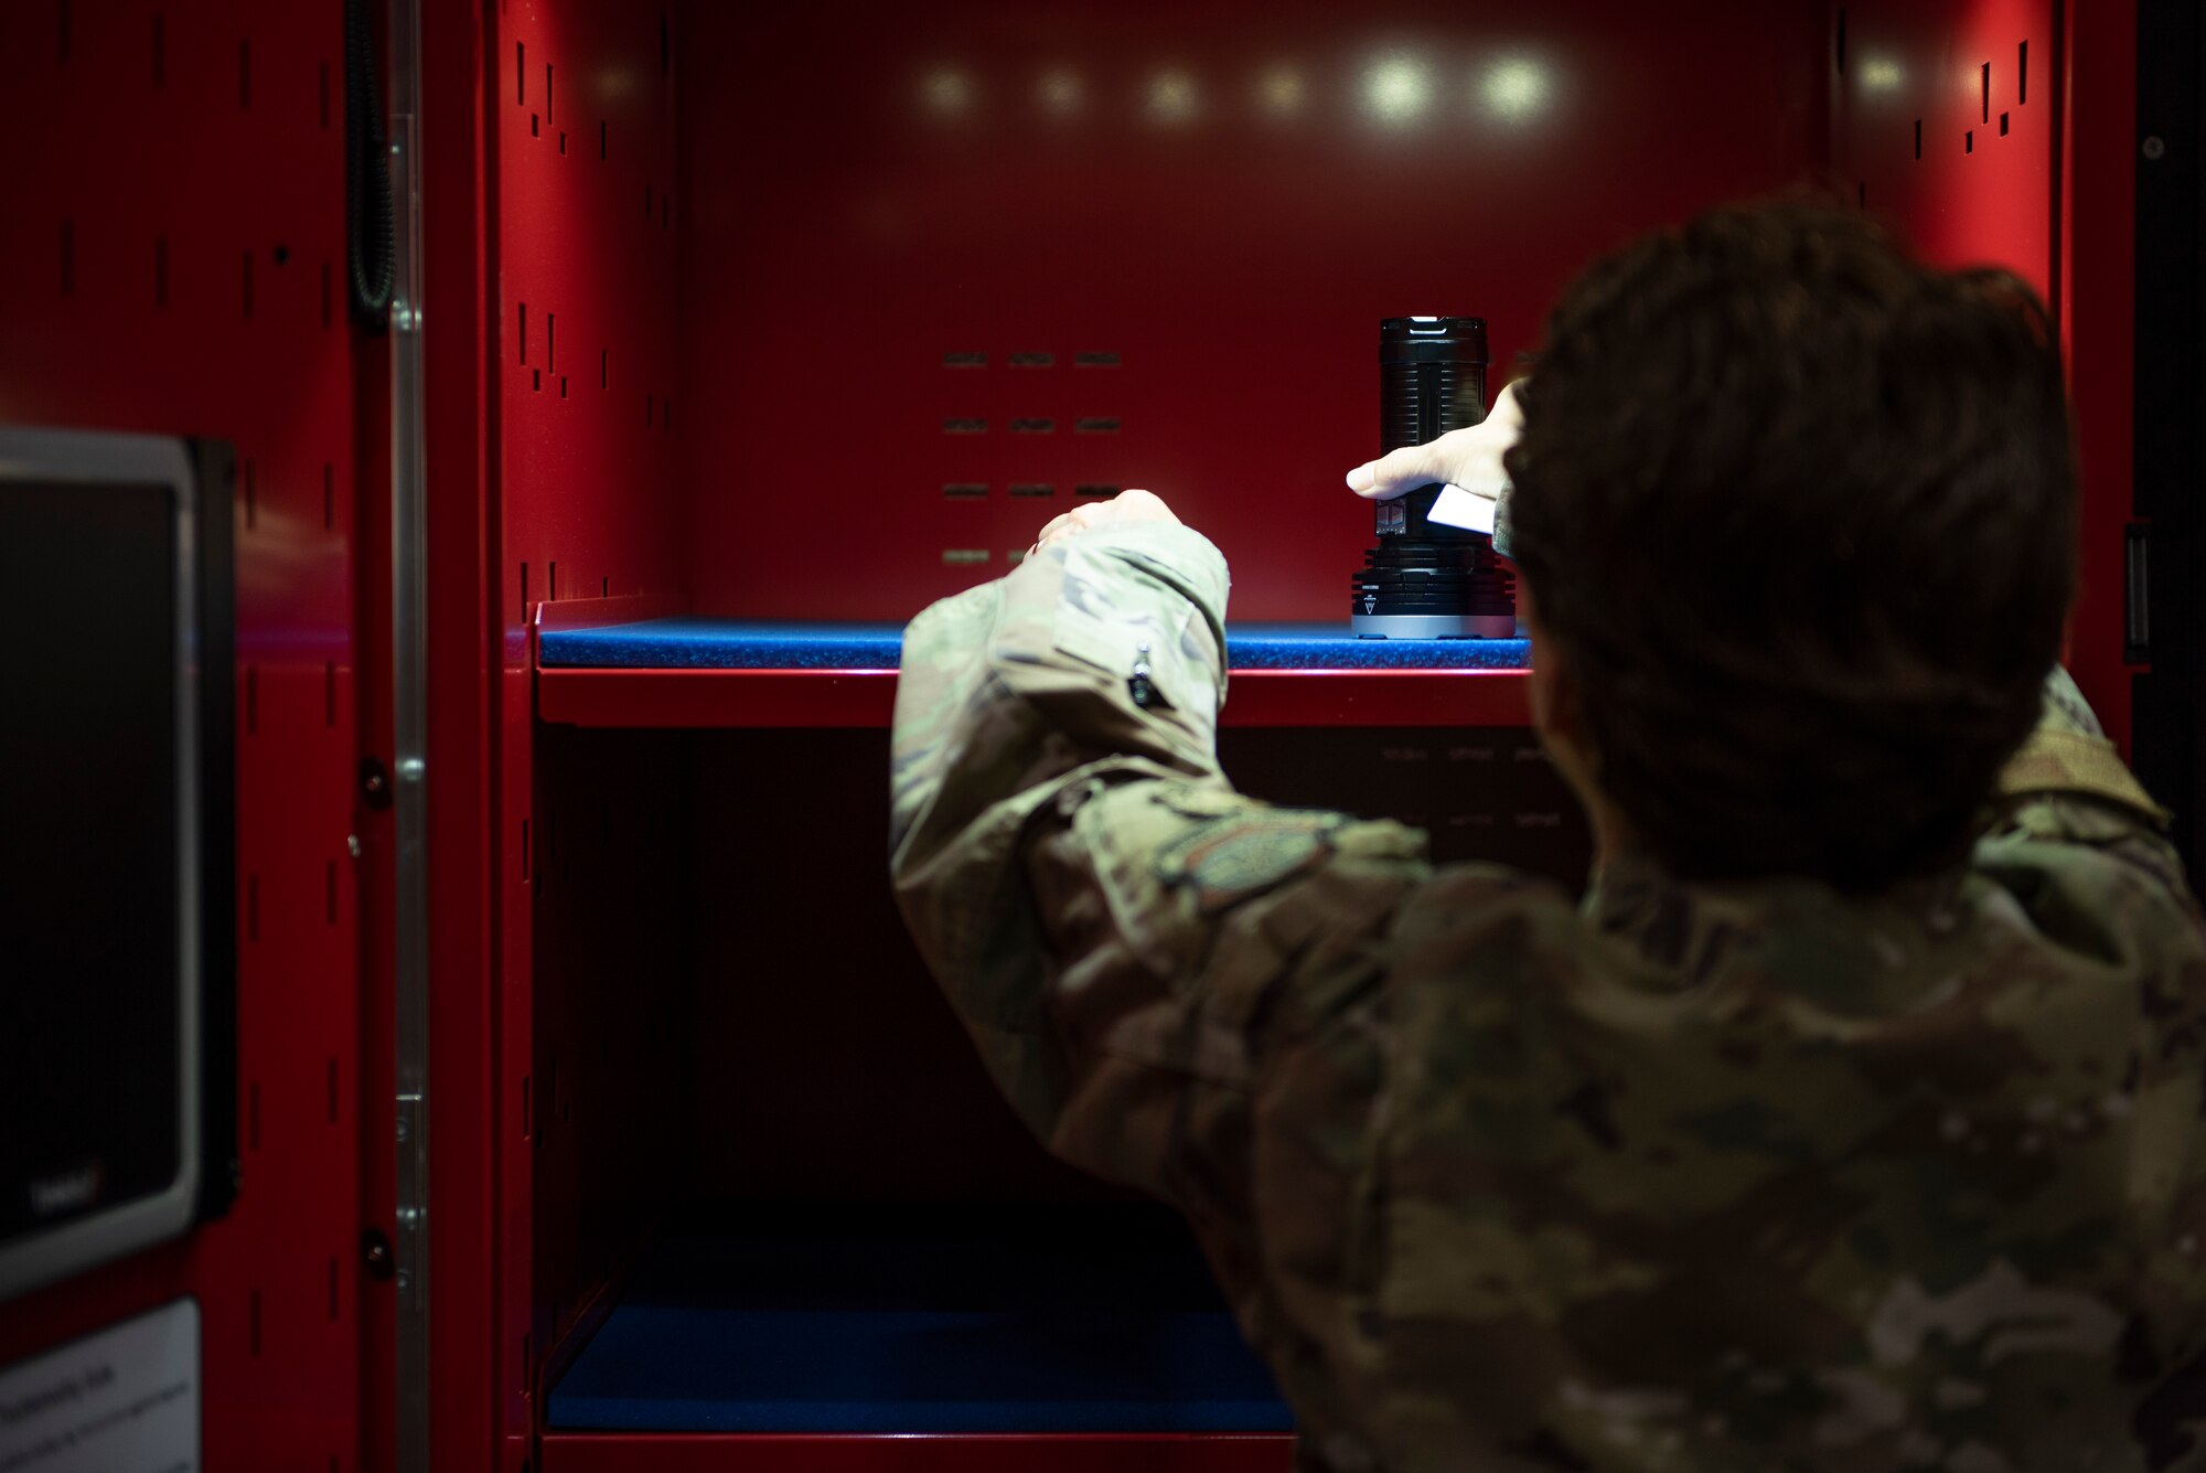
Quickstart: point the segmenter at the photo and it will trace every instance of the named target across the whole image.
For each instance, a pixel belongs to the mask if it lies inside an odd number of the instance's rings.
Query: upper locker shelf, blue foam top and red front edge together
[[[600,728],[867,728],[896,701],[893,624],[662,617],[538,631],[536,710]],[[1227,631],[1224,725],[1524,725],[1522,639]]]

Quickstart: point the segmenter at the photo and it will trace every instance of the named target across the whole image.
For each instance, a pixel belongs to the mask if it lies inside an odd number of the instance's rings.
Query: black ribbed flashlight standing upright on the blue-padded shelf
[[[1487,417],[1482,318],[1385,318],[1379,324],[1379,450],[1423,445]],[[1348,628],[1363,639],[1509,639],[1516,582],[1493,538],[1429,520],[1441,485],[1377,503]]]

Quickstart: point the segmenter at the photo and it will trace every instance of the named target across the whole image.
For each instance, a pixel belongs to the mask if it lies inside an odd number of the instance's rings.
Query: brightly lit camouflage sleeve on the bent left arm
[[[1218,772],[1222,602],[1187,529],[1057,542],[911,624],[891,745],[896,900],[997,1085],[1059,1155],[1198,1222],[1240,1217],[1279,1039],[1366,994],[1425,873],[1399,825]]]

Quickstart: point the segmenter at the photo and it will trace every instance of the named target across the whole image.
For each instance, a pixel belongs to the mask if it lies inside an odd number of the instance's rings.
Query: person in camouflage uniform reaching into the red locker
[[[986,1067],[1191,1219],[1310,1469],[2206,1466],[2206,942],[2056,668],[2043,309],[1723,209],[1513,399],[1350,485],[1507,448],[1584,900],[1238,794],[1224,560],[1127,492],[904,635],[891,880]]]

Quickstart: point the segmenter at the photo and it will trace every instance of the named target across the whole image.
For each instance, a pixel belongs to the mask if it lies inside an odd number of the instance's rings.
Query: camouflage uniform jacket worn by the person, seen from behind
[[[1132,525],[922,613],[891,878],[1024,1120],[1187,1213],[1304,1466],[2206,1466],[2206,948],[2065,675],[1966,871],[1573,902],[1235,794],[1224,595]]]

